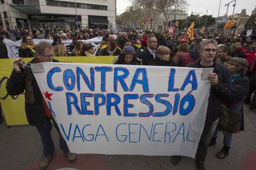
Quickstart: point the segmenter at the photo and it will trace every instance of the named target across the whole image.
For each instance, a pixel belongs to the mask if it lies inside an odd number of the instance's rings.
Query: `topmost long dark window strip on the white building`
[[[59,7],[75,7],[74,2],[64,2],[64,1],[52,1],[47,0],[46,5],[48,6],[59,6]],[[98,10],[108,10],[108,6],[100,6],[95,4],[83,4],[83,3],[76,3],[77,8],[82,9],[98,9]]]

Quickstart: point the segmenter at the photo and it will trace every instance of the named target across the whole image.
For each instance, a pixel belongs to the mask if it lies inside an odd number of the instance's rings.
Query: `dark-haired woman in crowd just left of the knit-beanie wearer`
[[[118,56],[121,53],[121,49],[117,48],[116,41],[108,38],[106,40],[106,48],[101,49],[100,56]]]

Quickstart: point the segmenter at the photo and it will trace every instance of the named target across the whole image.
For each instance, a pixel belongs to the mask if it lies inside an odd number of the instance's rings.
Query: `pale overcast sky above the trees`
[[[233,0],[221,0],[220,16],[226,14],[227,7],[224,5],[231,1]],[[130,4],[130,0],[116,0],[117,14],[124,12]],[[213,15],[213,17],[218,16],[220,0],[187,0],[187,4],[190,4],[189,14],[193,11],[194,14],[205,15],[208,10],[208,15]],[[233,4],[234,2],[229,4],[228,15],[232,15],[233,13]],[[255,6],[255,0],[237,0],[234,13],[240,13],[242,9],[246,9],[246,14],[250,15]]]

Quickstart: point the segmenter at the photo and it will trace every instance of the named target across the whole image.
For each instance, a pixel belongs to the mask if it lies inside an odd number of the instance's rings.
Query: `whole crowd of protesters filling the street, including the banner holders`
[[[43,143],[44,159],[40,169],[49,165],[54,153],[51,139],[51,120],[47,104],[43,100],[35,77],[30,67],[21,67],[23,57],[33,57],[31,63],[58,62],[54,56],[117,56],[113,64],[177,67],[213,67],[209,75],[211,82],[208,99],[207,119],[195,155],[197,169],[205,169],[204,161],[207,149],[216,144],[218,132],[224,135],[223,149],[216,154],[223,159],[229,154],[234,133],[244,130],[243,104],[249,104],[256,113],[256,32],[248,24],[241,35],[224,35],[223,33],[195,33],[190,40],[185,32],[169,35],[167,32],[129,30],[114,35],[111,30],[16,30],[16,40],[22,40],[19,59],[14,61],[14,70],[7,82],[9,95],[19,95],[25,90],[26,114],[28,122],[35,125]],[[100,48],[95,51],[88,40],[102,36]],[[7,32],[0,31],[2,40],[8,38]],[[33,43],[33,39],[53,39],[53,43]],[[62,45],[63,40],[72,40],[69,48]],[[1,50],[1,53],[4,53]],[[6,54],[1,54],[6,57]],[[32,88],[31,88],[32,87]],[[235,121],[223,125],[223,114],[236,115]],[[36,114],[35,114],[36,113]],[[233,117],[234,118],[234,117]],[[56,123],[54,126],[58,130]],[[58,130],[59,132],[59,130]],[[70,153],[65,140],[60,135],[61,150],[70,162],[75,161],[75,154]],[[172,156],[173,164],[178,164],[181,156]]]

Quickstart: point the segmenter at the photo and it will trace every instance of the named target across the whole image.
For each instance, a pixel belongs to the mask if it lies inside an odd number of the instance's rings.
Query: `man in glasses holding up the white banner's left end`
[[[58,62],[53,59],[54,48],[50,43],[42,41],[36,45],[35,58],[30,63],[38,62]],[[51,137],[51,129],[53,121],[54,127],[58,130],[59,128],[53,119],[51,111],[46,104],[43,94],[41,94],[38,84],[36,83],[35,77],[32,74],[30,64],[23,67],[22,58],[15,59],[13,62],[14,70],[12,70],[11,77],[9,78],[6,89],[9,95],[20,95],[25,91],[25,112],[28,123],[35,125],[38,130],[41,142],[43,144],[43,159],[40,163],[40,169],[45,169],[49,166],[53,153],[55,151],[53,139]],[[59,145],[61,150],[67,156],[67,159],[74,163],[76,155],[69,152],[67,143],[59,133]]]

